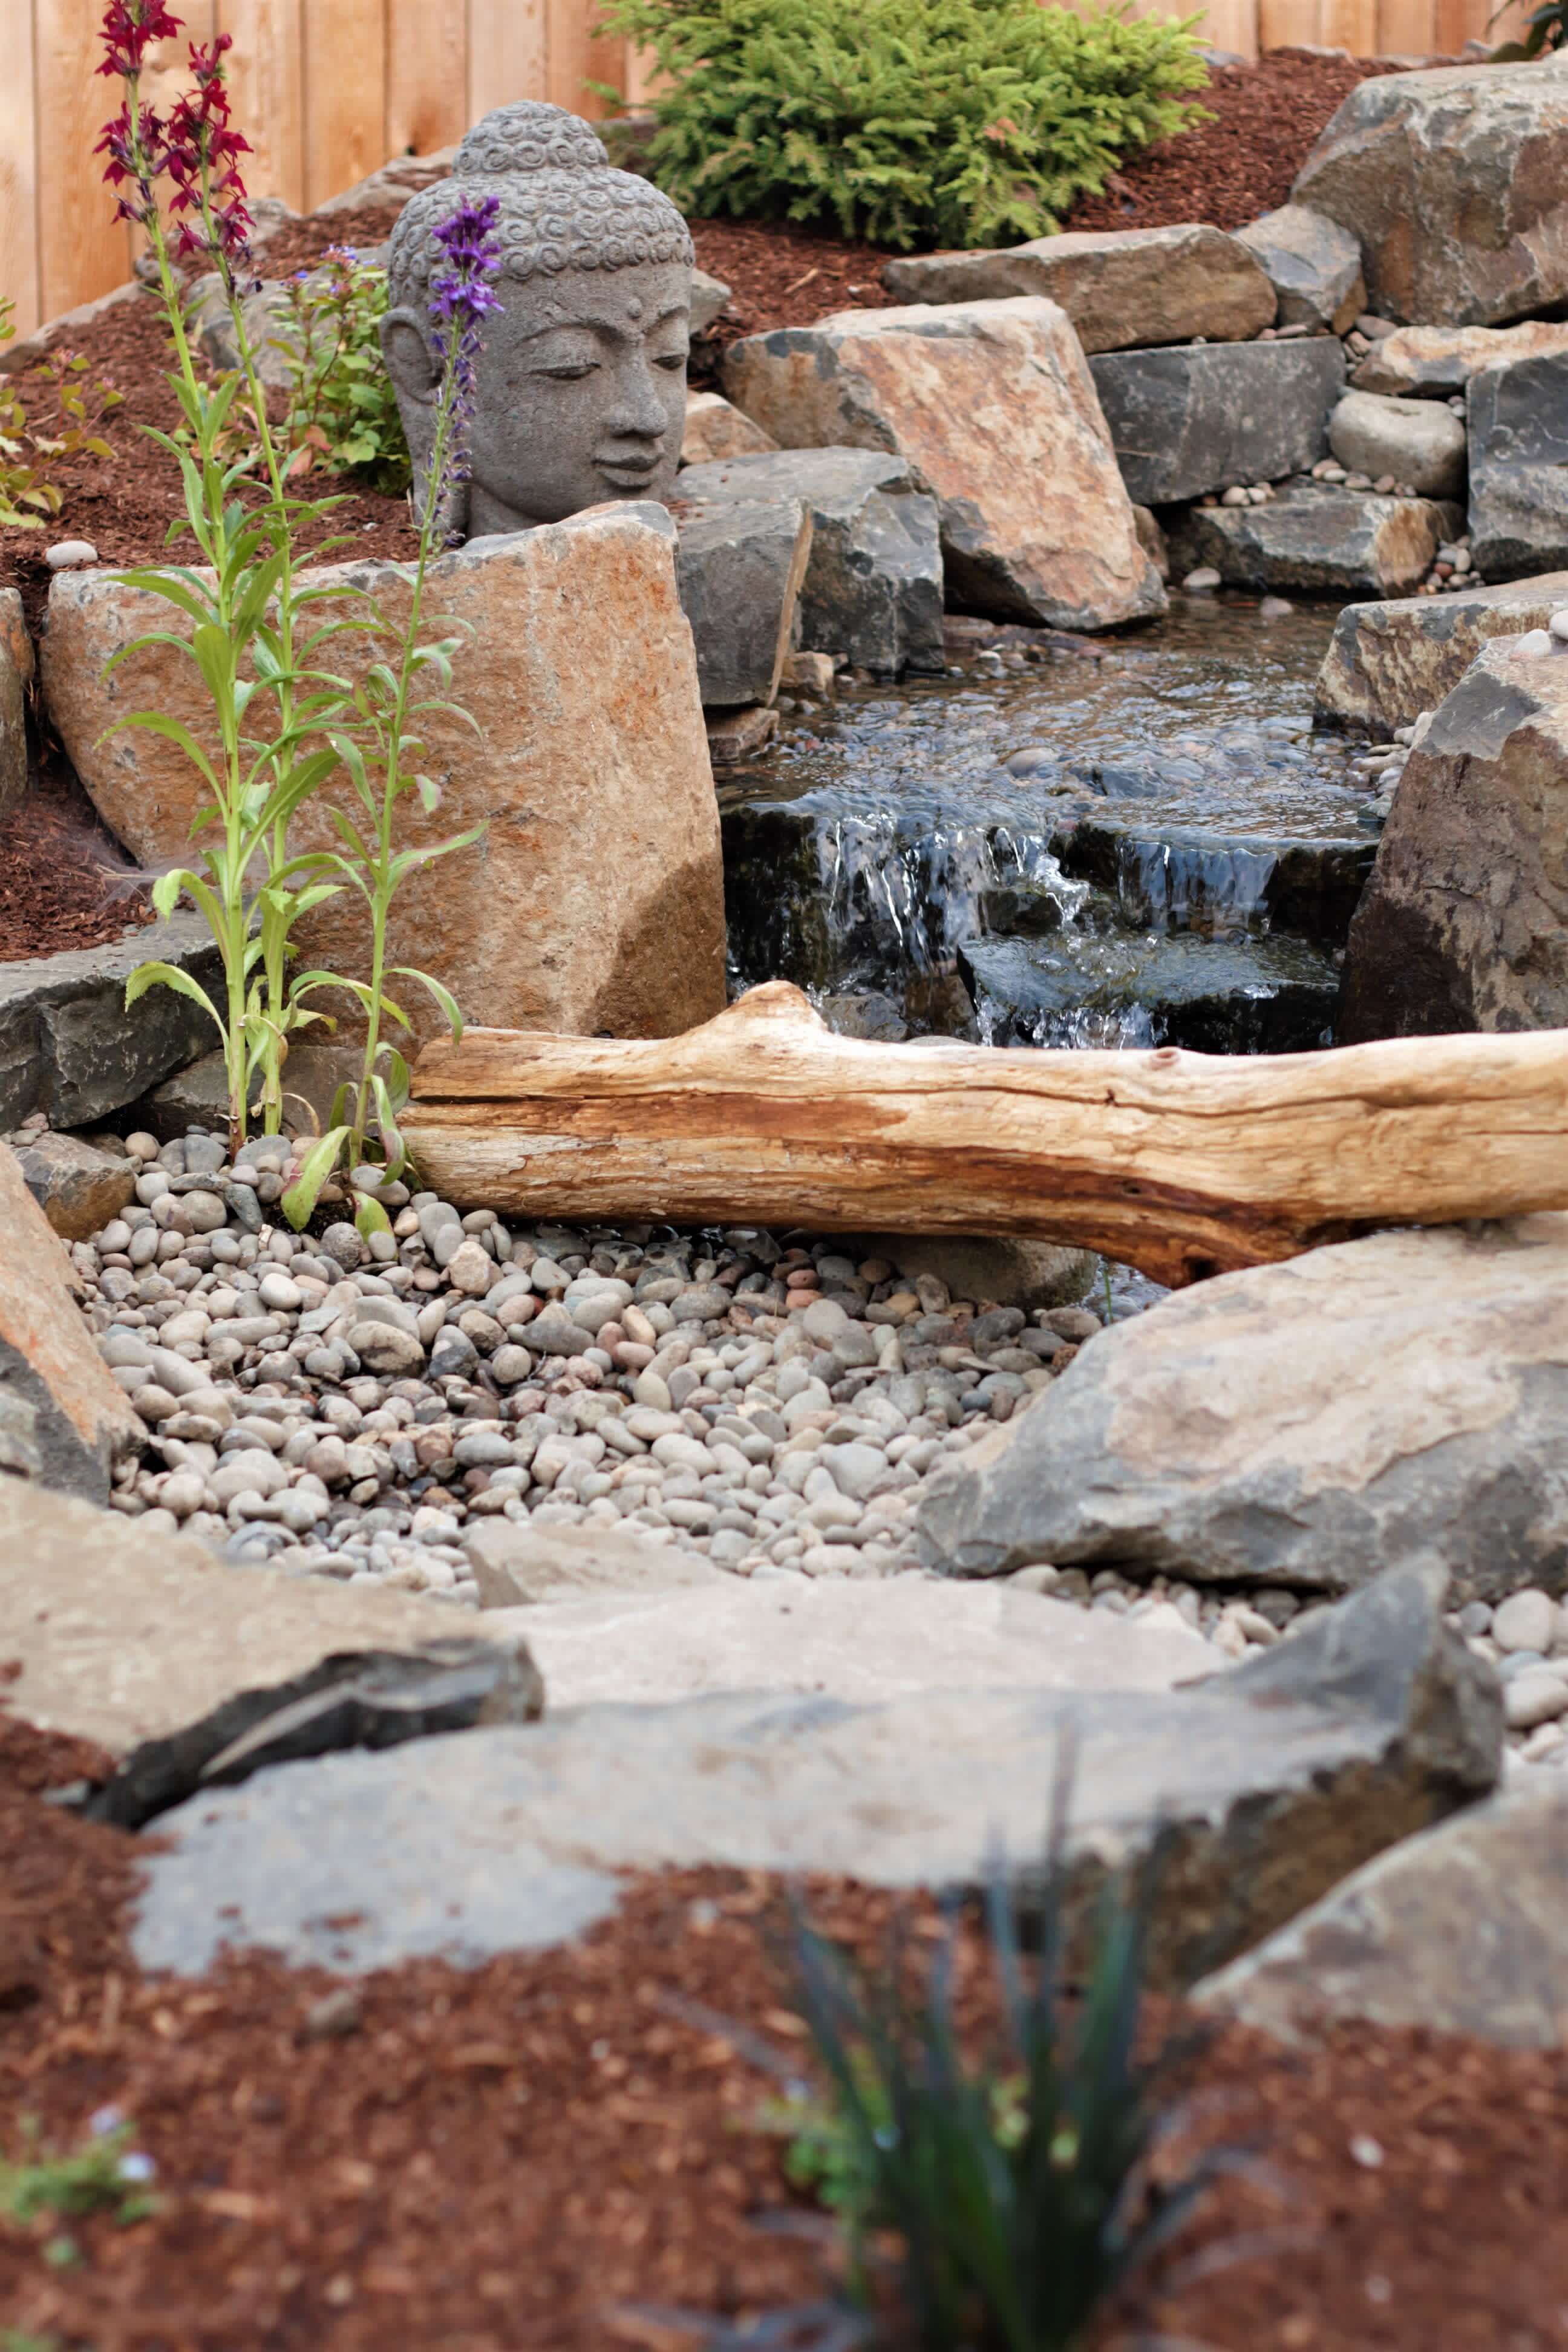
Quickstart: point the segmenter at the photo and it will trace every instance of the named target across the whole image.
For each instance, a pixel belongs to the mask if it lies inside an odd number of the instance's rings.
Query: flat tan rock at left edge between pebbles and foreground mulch
[[[331,1651],[416,1651],[473,1623],[407,1592],[230,1569],[195,1536],[0,1479],[5,1703],[125,1755]]]

